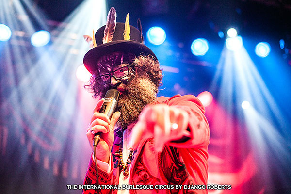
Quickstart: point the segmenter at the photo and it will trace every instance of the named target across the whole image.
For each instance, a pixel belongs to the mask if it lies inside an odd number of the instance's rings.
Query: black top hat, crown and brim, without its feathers
[[[113,8],[114,9],[114,8]],[[115,11],[115,10],[114,10]],[[107,18],[108,20],[108,18]],[[97,70],[98,59],[104,55],[110,55],[113,52],[132,53],[135,56],[144,54],[156,57],[151,49],[143,44],[142,32],[137,28],[130,26],[130,40],[124,40],[125,23],[116,23],[115,32],[113,33],[112,42],[103,43],[104,29],[102,26],[95,34],[96,47],[89,50],[83,59],[83,63],[88,71],[93,74]]]

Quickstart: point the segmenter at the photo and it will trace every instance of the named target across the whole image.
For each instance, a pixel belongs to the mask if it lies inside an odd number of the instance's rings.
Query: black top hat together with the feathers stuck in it
[[[130,63],[134,60],[135,56],[141,54],[152,55],[157,59],[153,51],[144,44],[140,20],[138,20],[137,26],[138,29],[129,25],[129,14],[127,15],[125,23],[116,22],[116,11],[112,7],[107,16],[106,25],[97,30],[94,38],[86,35],[84,36],[85,40],[91,43],[91,47],[93,47],[93,49],[90,49],[85,54],[83,59],[83,63],[87,70],[92,74],[96,72],[101,64],[106,64],[105,66],[108,67],[108,65],[114,66],[122,64],[122,61],[129,61]],[[119,54],[113,54],[115,52]],[[113,55],[118,57],[115,59]],[[132,57],[125,60],[128,55]],[[108,58],[104,56],[111,57]]]

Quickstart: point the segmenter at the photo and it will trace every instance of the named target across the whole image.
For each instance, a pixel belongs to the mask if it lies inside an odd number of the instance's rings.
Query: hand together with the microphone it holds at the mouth
[[[107,91],[105,97],[98,101],[87,129],[87,138],[92,149],[94,137],[97,136],[95,139],[100,141],[97,144],[96,158],[103,162],[109,161],[114,141],[114,126],[120,116],[120,112],[115,112],[118,97],[117,90]]]

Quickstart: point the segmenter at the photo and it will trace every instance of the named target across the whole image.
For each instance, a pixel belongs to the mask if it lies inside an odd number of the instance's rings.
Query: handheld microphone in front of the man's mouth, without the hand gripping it
[[[104,97],[105,101],[102,104],[99,113],[104,113],[109,117],[109,119],[111,119],[111,116],[113,115],[113,113],[115,112],[115,109],[117,107],[117,101],[118,101],[119,94],[120,94],[120,92],[116,89],[108,90],[105,94],[105,97]],[[95,134],[93,146],[98,145],[98,143],[100,141],[100,135],[101,135],[101,132],[97,132]]]

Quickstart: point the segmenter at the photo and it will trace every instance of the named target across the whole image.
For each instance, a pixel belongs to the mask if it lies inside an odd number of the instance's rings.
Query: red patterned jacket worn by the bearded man
[[[158,101],[181,108],[189,113],[187,130],[190,131],[191,135],[166,144],[160,153],[155,151],[152,139],[141,141],[130,164],[130,185],[206,185],[208,178],[207,147],[210,131],[204,116],[204,106],[193,95],[175,95],[171,98],[158,97]],[[114,133],[117,132],[118,130],[114,131]],[[113,150],[118,149],[115,145],[115,142],[118,141],[118,137],[115,136]],[[112,158],[114,159],[114,154]],[[115,161],[115,164],[117,162]],[[111,163],[113,164],[113,161]],[[113,168],[113,165],[109,174],[98,168],[99,184],[118,184],[119,178],[116,175],[119,175],[119,172],[117,171],[118,169]],[[95,173],[95,164],[91,158],[84,185],[96,183]],[[129,192],[130,194],[207,194],[207,190],[184,189],[184,186],[181,189],[132,189]],[[83,193],[97,194],[97,191],[89,189],[83,190]],[[101,190],[101,193],[115,194],[117,190]]]

